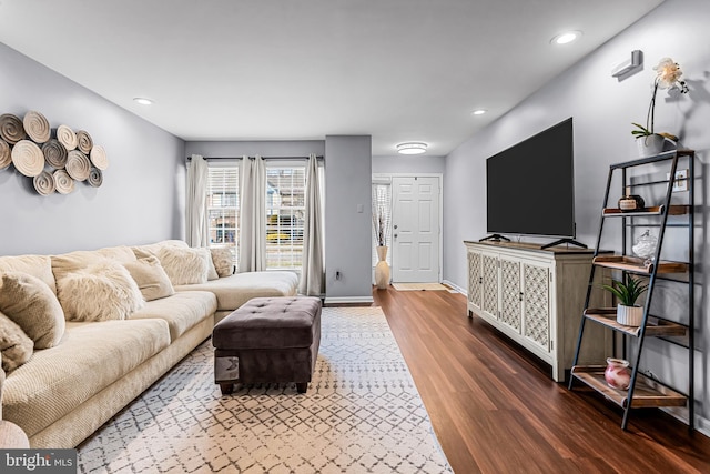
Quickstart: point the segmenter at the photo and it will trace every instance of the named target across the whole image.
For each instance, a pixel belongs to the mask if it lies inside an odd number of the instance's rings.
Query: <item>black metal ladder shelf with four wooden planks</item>
[[[678,169],[680,159],[688,161],[689,173],[686,182],[688,183],[688,204],[671,204],[673,198],[673,179],[665,181],[651,181],[641,184],[631,184],[627,170],[636,167],[645,165],[658,165],[659,163],[670,163],[669,177],[674,177]],[[599,254],[599,251],[595,251],[592,258],[592,265],[589,275],[589,284],[587,288],[587,299],[585,302],[585,311],[581,315],[581,322],[579,325],[579,335],[577,340],[577,349],[575,352],[575,359],[571,369],[571,376],[569,380],[569,390],[574,389],[575,381],[581,382],[588,387],[597,391],[606,399],[612,401],[617,405],[623,409],[623,418],[621,421],[621,428],[626,430],[629,421],[631,409],[636,407],[662,407],[662,406],[687,406],[688,409],[688,424],[689,430],[693,428],[694,424],[694,282],[693,282],[693,230],[694,230],[694,215],[693,215],[693,183],[694,183],[694,152],[692,150],[676,150],[670,152],[660,153],[655,157],[638,159],[633,161],[627,161],[623,163],[612,164],[609,168],[609,174],[607,180],[607,188],[604,198],[604,205],[601,212],[601,220],[599,224],[599,232],[597,234],[597,244],[595,249],[599,249],[601,238],[604,233],[604,226],[606,219],[621,219],[621,252],[617,255]],[[665,200],[661,204],[650,208],[645,208],[637,211],[626,212],[618,209],[609,208],[609,192],[612,183],[615,172],[621,172],[622,193],[626,194],[629,188],[633,185],[666,185]],[[656,171],[658,172],[658,171]],[[663,235],[666,228],[668,226],[669,215],[686,215],[687,223],[676,224],[673,226],[684,226],[688,229],[688,261],[686,262],[670,262],[661,261],[661,250],[663,248]],[[658,243],[656,246],[656,254],[650,261],[628,255],[629,245],[627,242],[627,230],[638,226],[642,226],[633,222],[636,218],[656,219],[658,222],[653,225],[658,229]],[[658,262],[658,263],[655,263]],[[590,307],[590,297],[592,294],[592,284],[595,280],[595,272],[597,269],[610,269],[613,271],[620,271],[622,276],[628,273],[648,276],[648,292],[646,294],[646,303],[643,305],[643,317],[641,324],[638,327],[626,326],[619,324],[616,321],[616,309],[611,307]],[[688,324],[680,324],[660,315],[650,314],[651,302],[653,297],[655,286],[657,280],[670,280],[678,282],[679,284],[687,285],[688,293]],[[623,352],[626,356],[627,342],[635,344],[636,346],[636,360],[631,361],[631,380],[628,390],[617,390],[610,387],[604,377],[604,365],[580,365],[578,364],[580,357],[580,350],[582,349],[582,342],[585,340],[586,323],[595,323],[611,330],[617,334],[621,334],[623,339]],[[667,336],[686,336],[688,344],[688,392],[687,394],[680,391],[669,387],[667,384],[661,383],[658,380],[653,380],[641,373],[639,363],[641,361],[641,354],[643,350],[643,342],[646,337],[660,337]]]

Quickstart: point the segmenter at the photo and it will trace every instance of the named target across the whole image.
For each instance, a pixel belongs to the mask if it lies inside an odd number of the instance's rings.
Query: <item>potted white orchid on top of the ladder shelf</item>
[[[651,102],[648,105],[648,113],[646,114],[646,127],[636,122],[631,123],[635,127],[635,129],[631,130],[631,134],[637,140],[636,143],[639,148],[639,154],[641,158],[652,157],[663,151],[663,142],[666,140],[670,140],[672,142],[678,141],[678,137],[671,133],[656,133],[653,130],[656,93],[658,90],[668,89],[668,93],[671,97],[677,97],[678,94],[688,92],[688,84],[686,84],[686,81],[680,80],[683,72],[680,70],[680,65],[672,59],[661,59],[653,70],[656,71],[656,79],[653,80]]]

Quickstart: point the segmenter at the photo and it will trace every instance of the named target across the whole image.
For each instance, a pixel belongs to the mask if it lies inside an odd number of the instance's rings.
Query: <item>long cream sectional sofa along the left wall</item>
[[[203,261],[207,260],[211,280],[185,281],[185,275],[180,274],[181,265],[189,266],[187,273],[194,276],[194,261],[170,259],[181,253],[194,259],[200,252]],[[7,300],[17,296],[12,285],[19,281],[26,286],[28,282],[30,286],[41,286],[38,291],[44,300],[57,299],[67,320],[63,327],[62,322],[54,321],[54,345],[38,349],[34,341],[29,360],[4,374],[4,383],[0,374],[2,418],[19,425],[32,447],[77,446],[207,339],[221,317],[251,297],[290,296],[297,292],[293,272],[221,272],[224,276],[215,278],[209,255],[209,250],[189,249],[182,241],[163,241],[62,255],[0,256],[0,319],[14,321],[12,314],[2,313],[16,311]],[[131,288],[128,295],[119,294],[118,310],[110,306],[112,296],[101,293],[100,286],[101,280],[114,271],[125,275],[116,264],[130,270],[135,283],[135,288],[126,283]],[[164,271],[162,275],[168,275],[170,284],[164,278],[162,286],[141,281],[145,279],[140,273],[136,276],[134,268]],[[142,301],[133,301],[136,288]],[[162,294],[153,299],[155,291]],[[133,301],[132,306],[126,301]],[[52,301],[48,304],[50,309],[58,307]],[[110,309],[104,309],[105,304]],[[30,323],[49,312],[30,310]],[[20,322],[26,324],[21,319]],[[4,366],[6,354],[13,354],[6,353],[6,349],[20,346],[0,342]]]

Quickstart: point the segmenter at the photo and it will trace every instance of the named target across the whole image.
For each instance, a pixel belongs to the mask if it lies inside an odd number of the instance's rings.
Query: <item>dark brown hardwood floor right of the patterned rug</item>
[[[374,290],[456,474],[710,473],[710,438],[660,410],[622,412],[446,291]]]

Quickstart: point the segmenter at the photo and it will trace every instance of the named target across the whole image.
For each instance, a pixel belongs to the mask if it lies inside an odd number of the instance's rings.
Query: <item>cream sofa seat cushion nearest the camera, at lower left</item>
[[[68,323],[62,344],[8,375],[2,416],[31,437],[169,344],[163,320]]]

